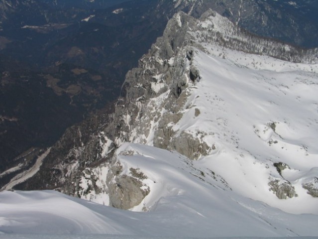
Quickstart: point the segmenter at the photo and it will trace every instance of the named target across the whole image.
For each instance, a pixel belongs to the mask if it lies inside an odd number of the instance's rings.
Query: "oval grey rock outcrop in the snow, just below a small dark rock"
[[[295,187],[286,180],[272,179],[268,185],[270,186],[269,190],[273,191],[279,199],[287,199],[298,196],[295,192]]]

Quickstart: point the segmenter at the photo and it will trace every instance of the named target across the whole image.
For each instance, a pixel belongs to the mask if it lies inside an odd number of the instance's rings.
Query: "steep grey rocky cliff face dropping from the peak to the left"
[[[80,196],[86,193],[82,192],[80,186],[83,174],[92,182],[91,188],[84,191],[98,188],[95,183],[99,179],[94,173],[86,175],[89,170],[85,169],[109,162],[113,150],[123,142],[155,141],[155,145],[171,147],[169,140],[172,135],[163,135],[162,139],[159,135],[165,134],[163,130],[166,129],[163,128],[166,122],[180,119],[181,115],[173,111],[180,111],[178,108],[182,106],[186,94],[183,90],[190,79],[190,61],[183,59],[186,50],[179,53],[181,47],[190,40],[186,34],[188,28],[179,25],[180,21],[186,20],[190,26],[195,26],[194,18],[184,13],[176,15],[169,21],[164,36],[140,59],[138,68],[127,73],[114,112],[99,115],[85,124],[68,129],[51,149],[42,166],[43,170],[20,187],[59,188],[62,192]],[[158,101],[160,98],[161,102]],[[177,100],[177,105],[167,104],[170,100]],[[157,124],[160,129],[154,128]],[[50,183],[43,184],[43,179],[48,178]]]

